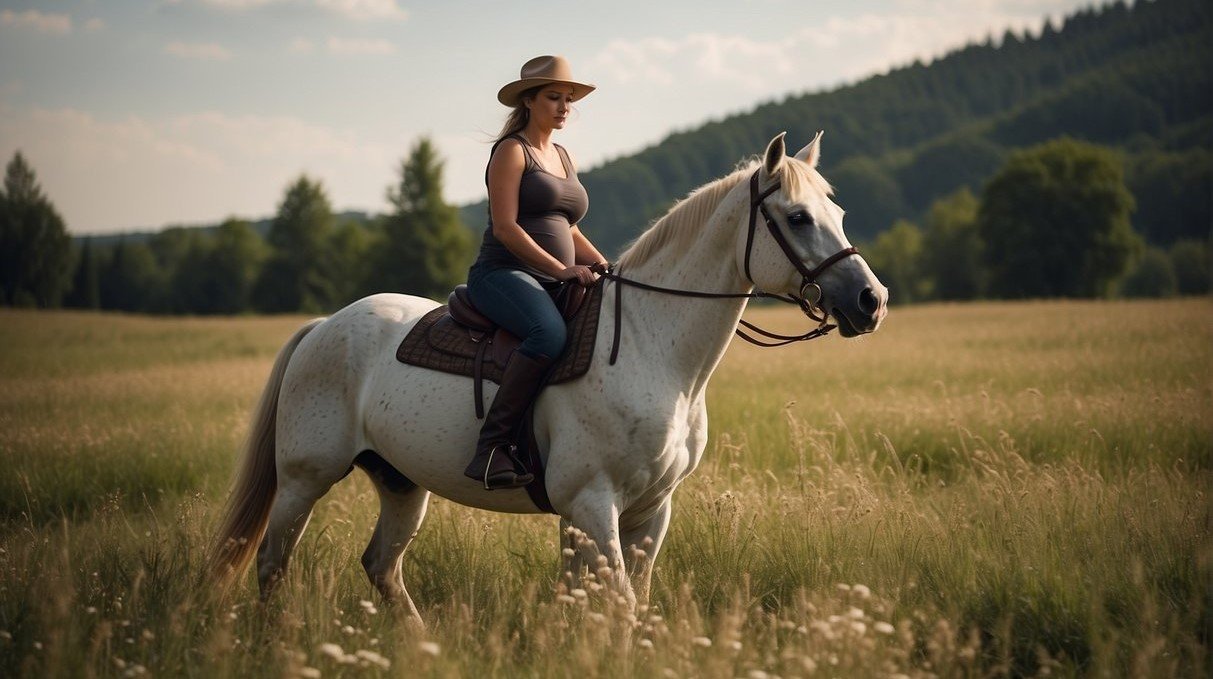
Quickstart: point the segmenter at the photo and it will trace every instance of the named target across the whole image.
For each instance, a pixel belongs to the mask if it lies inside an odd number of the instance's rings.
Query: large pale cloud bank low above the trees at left
[[[76,109],[0,104],[0,155],[16,142],[73,233],[270,215],[301,172],[337,209],[382,209],[394,139],[295,116],[200,112],[103,120]],[[10,146],[13,144],[13,146]]]

